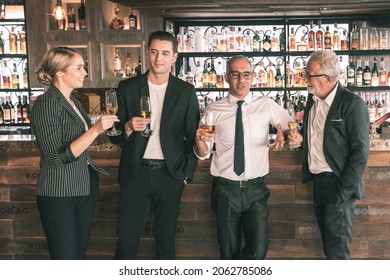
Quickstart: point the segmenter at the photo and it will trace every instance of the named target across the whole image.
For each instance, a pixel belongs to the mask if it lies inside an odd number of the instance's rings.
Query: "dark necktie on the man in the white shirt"
[[[242,103],[244,100],[237,101],[236,115],[236,137],[234,142],[234,172],[240,176],[245,170],[245,155],[244,155],[244,128],[242,125]]]

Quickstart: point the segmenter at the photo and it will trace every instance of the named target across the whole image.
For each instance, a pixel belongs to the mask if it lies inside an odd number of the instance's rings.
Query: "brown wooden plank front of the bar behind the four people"
[[[116,245],[119,152],[92,152],[110,176],[101,179],[88,259],[112,259]],[[300,182],[300,152],[271,152],[266,179],[272,193],[268,259],[322,259],[311,207],[311,185]],[[48,259],[35,204],[38,152],[0,151],[0,259]],[[390,258],[390,152],[371,152],[364,174],[366,197],[355,208],[351,257]],[[186,186],[177,225],[178,259],[218,259],[215,217],[210,209],[209,162],[199,163]],[[145,225],[140,259],[154,256],[153,216]]]

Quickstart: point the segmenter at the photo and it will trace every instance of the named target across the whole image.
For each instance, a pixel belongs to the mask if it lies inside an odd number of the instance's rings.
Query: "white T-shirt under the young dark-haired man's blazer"
[[[150,129],[153,130],[153,135],[149,137],[148,145],[146,146],[144,153],[144,158],[164,159],[164,154],[162,152],[160,143],[160,122],[168,82],[161,85],[155,85],[151,82],[148,82],[148,85],[150,103],[152,107],[152,122],[150,123]]]

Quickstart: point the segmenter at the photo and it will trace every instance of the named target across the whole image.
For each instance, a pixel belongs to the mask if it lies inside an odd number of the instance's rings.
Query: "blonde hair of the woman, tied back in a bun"
[[[56,73],[59,71],[66,72],[70,66],[71,58],[79,54],[76,50],[68,47],[57,47],[48,50],[41,65],[35,71],[38,82],[44,86],[49,86],[56,81]]]

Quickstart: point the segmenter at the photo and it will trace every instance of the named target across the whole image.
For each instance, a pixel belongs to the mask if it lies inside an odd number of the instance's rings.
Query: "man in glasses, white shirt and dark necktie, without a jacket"
[[[250,93],[253,69],[245,56],[232,57],[226,65],[227,97],[213,102],[206,115],[214,113],[215,134],[196,131],[194,145],[199,159],[210,157],[214,177],[212,207],[217,218],[217,238],[221,259],[263,259],[268,250],[268,204],[270,190],[264,184],[268,174],[269,147],[284,144],[290,116],[276,102]],[[278,127],[275,142],[269,145],[269,124]],[[245,245],[241,249],[241,231]]]

